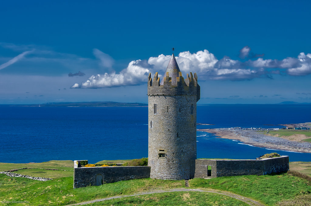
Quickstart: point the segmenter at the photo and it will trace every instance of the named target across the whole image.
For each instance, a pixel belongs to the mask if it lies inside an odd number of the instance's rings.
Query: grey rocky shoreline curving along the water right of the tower
[[[245,144],[275,150],[311,153],[311,143],[291,141],[288,139],[268,136],[253,130],[198,129],[197,131],[213,133],[219,138],[239,140]]]

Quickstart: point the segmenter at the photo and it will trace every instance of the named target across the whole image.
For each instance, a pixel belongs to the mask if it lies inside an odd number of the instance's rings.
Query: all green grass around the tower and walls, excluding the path
[[[111,162],[111,160],[106,160]],[[38,168],[57,167],[73,169],[68,161],[35,163]],[[20,168],[25,164],[0,163],[0,170]],[[26,164],[28,165],[28,164]],[[33,167],[34,164],[32,164]],[[15,166],[15,168],[14,168]],[[71,161],[71,167],[73,163]],[[293,162],[290,169],[310,174],[310,163]],[[25,167],[25,166],[22,166]],[[131,195],[150,190],[186,188],[185,182],[155,179],[137,179],[73,189],[73,172],[63,170],[23,169],[16,173],[37,177],[52,177],[53,180],[37,181],[21,177],[8,177],[0,174],[0,206],[2,205],[66,205],[92,199],[116,195]],[[192,179],[189,188],[215,189],[228,191],[257,200],[265,205],[299,205],[299,201],[311,198],[311,183],[287,173],[265,176],[218,177],[212,179]],[[295,196],[296,199],[295,199]],[[297,199],[298,198],[298,199]],[[2,201],[28,201],[28,204],[4,204]],[[280,201],[280,202],[279,202]],[[279,203],[278,203],[279,202]],[[295,204],[290,204],[295,202]],[[88,205],[245,205],[245,203],[205,192],[172,192],[105,200]],[[301,203],[300,205],[305,205]]]

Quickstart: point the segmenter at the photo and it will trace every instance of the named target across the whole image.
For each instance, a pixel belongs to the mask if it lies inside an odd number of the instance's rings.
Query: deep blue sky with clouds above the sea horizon
[[[311,102],[310,4],[5,1],[0,104],[146,103],[171,47],[198,74],[199,104]]]

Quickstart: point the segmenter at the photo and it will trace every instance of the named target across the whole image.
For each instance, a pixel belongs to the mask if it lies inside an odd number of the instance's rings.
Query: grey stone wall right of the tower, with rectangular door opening
[[[211,166],[210,175],[208,175],[208,166]],[[266,175],[273,172],[287,172],[288,170],[288,156],[256,160],[196,159],[194,177],[207,178],[239,175]]]

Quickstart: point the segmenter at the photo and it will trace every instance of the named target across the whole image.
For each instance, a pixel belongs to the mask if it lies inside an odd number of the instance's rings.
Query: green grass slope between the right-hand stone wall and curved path
[[[260,200],[267,205],[294,198],[296,195],[309,195],[310,183],[290,175],[247,175],[236,177],[217,177],[212,179],[195,178],[189,181],[194,188],[211,188],[225,190],[252,199]]]

